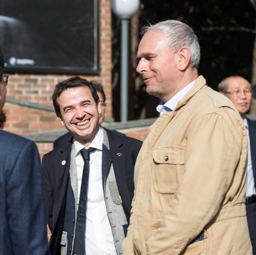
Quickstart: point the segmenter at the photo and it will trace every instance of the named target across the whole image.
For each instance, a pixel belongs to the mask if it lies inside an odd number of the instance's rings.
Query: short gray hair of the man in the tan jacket
[[[190,50],[190,63],[192,69],[198,70],[200,61],[200,46],[194,30],[190,26],[178,20],[166,20],[157,24],[149,24],[142,27],[141,34],[144,35],[150,30],[162,31],[169,39],[171,49],[177,52],[181,47],[187,47]]]

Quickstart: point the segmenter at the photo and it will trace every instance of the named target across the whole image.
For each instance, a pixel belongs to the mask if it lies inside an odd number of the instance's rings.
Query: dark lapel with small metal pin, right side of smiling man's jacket
[[[123,142],[118,135],[108,132],[108,142],[110,146],[110,154],[112,158],[114,173],[116,176],[116,183],[118,186],[119,194],[122,198],[124,210],[127,215],[130,215],[130,195],[126,184],[126,167],[124,159],[124,151],[122,150]]]

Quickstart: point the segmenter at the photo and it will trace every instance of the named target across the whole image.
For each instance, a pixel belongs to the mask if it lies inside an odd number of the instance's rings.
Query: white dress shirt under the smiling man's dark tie
[[[96,148],[97,150],[90,154],[90,174],[85,230],[86,255],[117,255],[102,187],[103,136],[104,134],[100,127],[98,134],[90,144],[90,148]],[[76,155],[79,203],[84,168],[84,160],[80,150],[86,147],[74,139],[74,148]]]

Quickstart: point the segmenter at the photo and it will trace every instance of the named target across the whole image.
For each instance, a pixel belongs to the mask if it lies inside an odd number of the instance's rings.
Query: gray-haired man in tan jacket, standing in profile
[[[143,34],[137,71],[162,103],[137,158],[123,254],[251,255],[243,121],[198,77],[189,26],[166,20]]]

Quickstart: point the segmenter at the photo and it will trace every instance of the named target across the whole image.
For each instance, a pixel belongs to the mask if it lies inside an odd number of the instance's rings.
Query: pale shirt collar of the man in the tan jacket
[[[160,113],[160,116],[164,112],[173,111],[175,109],[175,107],[177,106],[178,102],[186,95],[186,93],[188,93],[188,91],[190,91],[190,89],[192,89],[195,82],[196,82],[196,80],[194,80],[191,83],[189,83],[188,85],[186,85],[186,87],[184,87],[182,90],[180,90],[176,95],[174,95],[166,103],[164,103],[164,102],[160,103],[160,105],[158,105],[156,107],[156,111],[158,111],[158,113]]]

